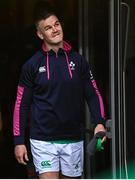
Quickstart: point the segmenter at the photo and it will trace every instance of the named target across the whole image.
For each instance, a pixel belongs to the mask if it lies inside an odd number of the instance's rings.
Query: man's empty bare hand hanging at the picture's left
[[[18,163],[26,165],[28,159],[28,153],[26,146],[24,144],[16,145],[14,149],[15,158],[17,159]]]

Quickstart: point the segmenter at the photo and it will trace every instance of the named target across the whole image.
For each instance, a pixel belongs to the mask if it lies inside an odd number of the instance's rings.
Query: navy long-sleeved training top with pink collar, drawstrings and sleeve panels
[[[15,145],[24,144],[28,119],[32,139],[81,139],[85,100],[94,123],[104,124],[102,97],[88,62],[66,42],[57,54],[43,45],[22,67],[13,115]]]

